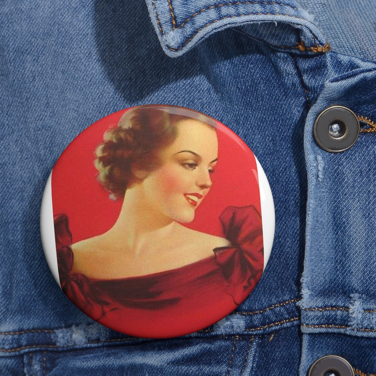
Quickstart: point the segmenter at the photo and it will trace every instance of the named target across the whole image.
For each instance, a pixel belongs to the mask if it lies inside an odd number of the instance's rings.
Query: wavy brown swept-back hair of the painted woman
[[[139,179],[132,171],[153,171],[160,165],[158,153],[175,140],[176,124],[196,120],[215,127],[215,120],[190,109],[167,106],[136,106],[126,111],[117,127],[103,136],[96,149],[97,179],[114,198]]]

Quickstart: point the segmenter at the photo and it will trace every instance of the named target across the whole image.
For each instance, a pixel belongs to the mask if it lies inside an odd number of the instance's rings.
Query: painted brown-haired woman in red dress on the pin
[[[97,148],[98,179],[124,197],[107,232],[75,244],[56,216],[61,287],[85,314],[119,332],[167,338],[220,320],[261,276],[261,215],[228,207],[226,238],[185,227],[218,162],[215,122],[174,106],[125,112]]]

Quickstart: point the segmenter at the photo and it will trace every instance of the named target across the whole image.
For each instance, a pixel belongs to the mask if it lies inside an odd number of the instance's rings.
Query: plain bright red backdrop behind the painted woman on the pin
[[[117,125],[126,110],[108,115],[81,132],[64,150],[52,172],[53,214],[65,213],[73,243],[99,235],[112,227],[122,200],[109,199],[97,182],[94,150],[103,133]],[[195,219],[185,226],[222,236],[219,220],[227,206],[254,205],[261,213],[255,157],[248,146],[229,128],[217,122],[218,164],[212,174],[210,193],[196,210]]]

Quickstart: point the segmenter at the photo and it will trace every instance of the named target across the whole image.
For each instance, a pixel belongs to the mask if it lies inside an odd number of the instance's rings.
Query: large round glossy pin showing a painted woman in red
[[[82,312],[124,334],[170,338],[246,299],[271,252],[274,204],[229,128],[187,108],[136,106],[64,150],[44,191],[41,237]]]

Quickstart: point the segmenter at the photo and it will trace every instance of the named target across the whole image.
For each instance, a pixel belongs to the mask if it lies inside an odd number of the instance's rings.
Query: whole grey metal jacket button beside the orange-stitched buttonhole
[[[313,134],[318,145],[331,153],[344,152],[359,137],[359,121],[356,115],[343,106],[331,106],[318,115]]]

